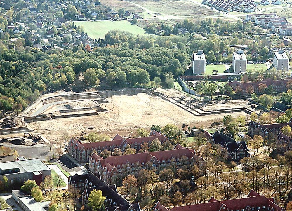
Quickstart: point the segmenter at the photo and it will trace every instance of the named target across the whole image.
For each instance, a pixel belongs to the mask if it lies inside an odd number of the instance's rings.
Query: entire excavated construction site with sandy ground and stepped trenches
[[[1,128],[0,138],[41,136],[41,142],[64,142],[82,132],[131,136],[137,128],[154,124],[183,123],[209,128],[227,114],[249,115],[256,111],[247,100],[198,101],[175,89],[107,90],[94,92],[58,91],[42,95],[15,118],[14,127]],[[38,143],[38,142],[36,142]]]

